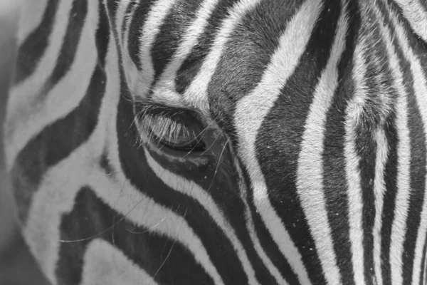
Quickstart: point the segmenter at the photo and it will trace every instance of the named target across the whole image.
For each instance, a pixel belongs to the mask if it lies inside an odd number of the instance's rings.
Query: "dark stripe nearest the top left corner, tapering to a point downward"
[[[18,58],[16,58],[14,84],[21,83],[21,81],[34,72],[38,61],[40,61],[43,53],[46,51],[59,2],[58,0],[49,0],[46,3],[46,10],[43,14],[41,24],[28,35],[19,47]]]

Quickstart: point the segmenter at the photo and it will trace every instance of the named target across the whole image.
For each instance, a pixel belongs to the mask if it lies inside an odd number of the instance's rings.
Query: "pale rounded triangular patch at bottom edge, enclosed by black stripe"
[[[144,269],[102,239],[94,239],[86,248],[81,285],[154,285]]]

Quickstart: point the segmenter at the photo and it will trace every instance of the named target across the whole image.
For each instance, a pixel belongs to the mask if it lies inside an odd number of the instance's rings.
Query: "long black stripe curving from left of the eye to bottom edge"
[[[125,83],[122,82],[122,86],[125,88]],[[117,139],[120,163],[126,177],[139,191],[154,199],[154,202],[173,210],[186,219],[196,236],[201,239],[225,284],[247,284],[247,276],[231,242],[206,209],[192,197],[164,185],[147,165],[147,157],[144,155],[143,148],[135,146],[135,140],[139,134],[135,124],[132,124],[134,120],[132,103],[125,97],[125,95],[121,96],[117,110],[117,114],[120,115],[117,117]],[[155,154],[152,153],[152,155]],[[179,167],[186,166],[179,165]],[[187,171],[193,170],[187,169]],[[233,270],[230,270],[231,268]],[[182,282],[182,284],[184,283],[186,282]]]

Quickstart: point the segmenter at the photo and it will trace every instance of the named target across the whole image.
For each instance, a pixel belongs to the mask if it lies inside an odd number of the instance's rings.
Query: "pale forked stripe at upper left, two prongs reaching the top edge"
[[[56,64],[56,55],[63,39],[63,29],[67,26],[68,10],[72,1],[63,1],[55,22],[50,46],[46,56],[33,75],[19,86],[11,89],[7,106],[5,128],[6,167],[10,169],[16,155],[36,134],[51,122],[65,117],[78,106],[90,84],[90,78],[97,61],[95,31],[97,27],[97,3],[88,1],[87,21],[83,26],[78,49],[70,70],[48,94],[41,94],[43,85]],[[66,11],[65,11],[66,10]],[[63,16],[63,18],[60,18]],[[58,19],[56,19],[58,20]],[[41,100],[39,95],[46,95]]]

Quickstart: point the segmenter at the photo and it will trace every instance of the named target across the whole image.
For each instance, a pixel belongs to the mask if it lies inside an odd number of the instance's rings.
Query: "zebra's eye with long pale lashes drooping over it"
[[[147,130],[149,137],[152,137],[159,147],[186,152],[205,150],[201,134],[172,118],[165,118],[161,115],[149,118]]]

